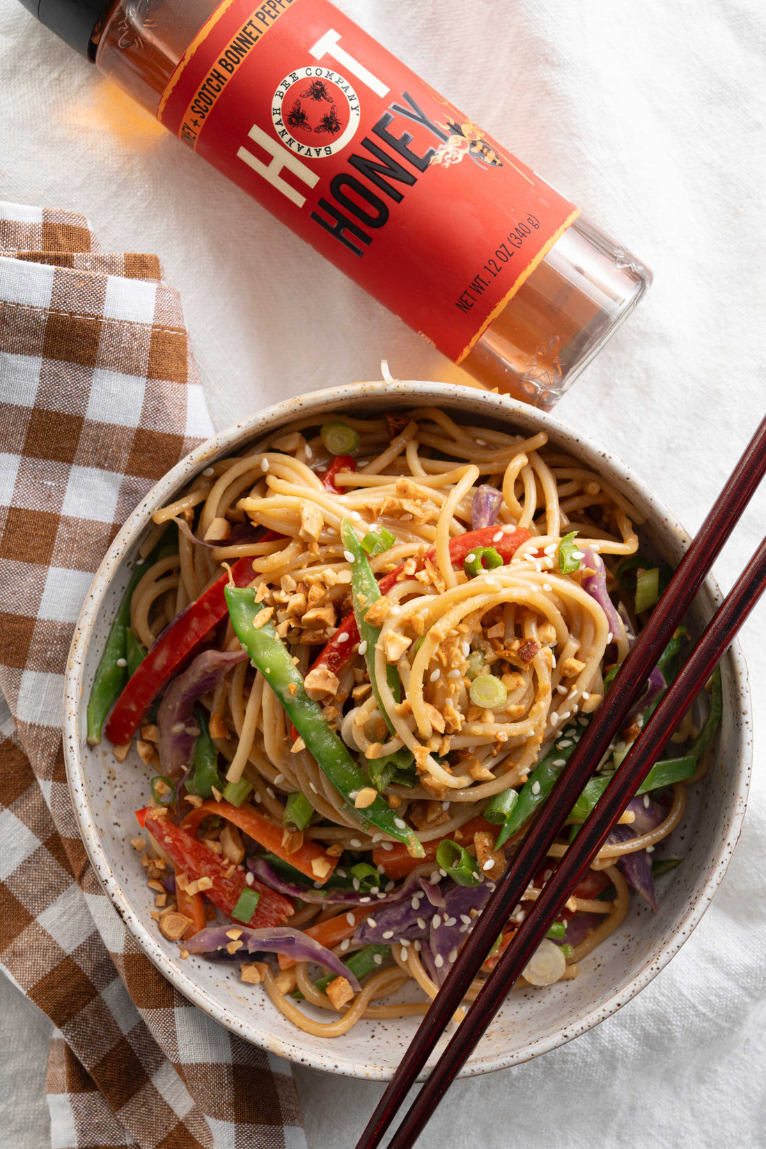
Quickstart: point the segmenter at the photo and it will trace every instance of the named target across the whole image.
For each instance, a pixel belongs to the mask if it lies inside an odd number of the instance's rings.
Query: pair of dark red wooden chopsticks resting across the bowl
[[[681,623],[765,473],[766,418],[763,419],[681,560],[665,594],[622,663],[612,688],[585,728],[533,831],[520,842],[511,864],[477,919],[477,925],[469,934],[457,962],[432,1002],[356,1149],[376,1149],[380,1144],[410,1087],[415,1085],[452,1013],[486,961],[497,935],[520,902],[533,873],[547,859],[549,847],[560,833],[572,807],[590,779],[595,764],[601,762],[609,745],[625,725],[630,705],[641,694],[651,669]],[[482,986],[466,1019],[458,1026],[428,1080],[394,1133],[388,1149],[410,1149],[415,1143],[764,589],[766,589],[766,539],[713,616],[688,662],[641,731],[601,801],[556,865],[532,910],[519,925],[513,940]],[[552,867],[555,863],[551,859],[547,861]]]

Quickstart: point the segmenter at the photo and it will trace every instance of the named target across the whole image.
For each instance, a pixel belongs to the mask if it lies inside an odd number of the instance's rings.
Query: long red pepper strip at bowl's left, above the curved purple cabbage
[[[253,560],[240,558],[232,566],[237,586],[247,586],[254,579]],[[226,614],[224,587],[229,574],[224,572],[208,587],[196,602],[189,603],[150,648],[125,689],[117,699],[106,726],[106,735],[115,746],[129,742],[157,694],[177,672],[192,649]]]

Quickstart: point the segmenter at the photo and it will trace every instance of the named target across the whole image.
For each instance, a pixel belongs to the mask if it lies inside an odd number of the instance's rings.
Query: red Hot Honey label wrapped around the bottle
[[[327,0],[224,0],[157,115],[457,363],[579,214]]]

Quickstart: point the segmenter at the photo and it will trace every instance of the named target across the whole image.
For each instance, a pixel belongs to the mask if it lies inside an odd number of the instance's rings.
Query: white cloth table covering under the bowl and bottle
[[[763,0],[341,7],[653,269],[651,292],[558,414],[695,530],[765,406]],[[0,0],[0,198],[84,211],[105,248],[160,255],[216,426],[378,378],[381,357],[403,378],[455,377],[15,0]],[[717,564],[725,588],[765,518],[761,495]],[[766,1144],[764,617],[743,632],[758,734],[750,811],[701,926],[597,1030],[456,1086],[424,1149]],[[0,1128],[16,1149],[42,1149],[46,1026],[13,987],[0,993]],[[346,1149],[381,1087],[296,1073],[310,1149]]]

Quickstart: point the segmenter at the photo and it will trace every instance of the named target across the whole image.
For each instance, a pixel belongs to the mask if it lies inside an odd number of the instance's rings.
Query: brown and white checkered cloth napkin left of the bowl
[[[191,1005],[125,930],[64,774],[63,671],[92,574],[211,430],[156,257],[102,253],[73,213],[0,203],[0,967],[56,1027],[56,1149],[305,1146],[289,1065]]]

